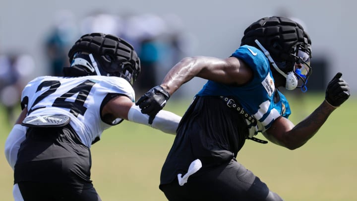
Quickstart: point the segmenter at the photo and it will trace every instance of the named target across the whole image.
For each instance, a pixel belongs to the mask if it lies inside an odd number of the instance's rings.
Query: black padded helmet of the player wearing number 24
[[[80,37],[68,52],[64,76],[118,76],[133,84],[140,60],[132,45],[114,35],[91,33]]]

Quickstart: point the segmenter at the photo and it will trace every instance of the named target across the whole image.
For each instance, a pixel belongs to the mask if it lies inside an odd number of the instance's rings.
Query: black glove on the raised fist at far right
[[[329,82],[326,89],[325,99],[334,107],[339,107],[350,97],[350,86],[341,76],[342,73],[338,72]]]

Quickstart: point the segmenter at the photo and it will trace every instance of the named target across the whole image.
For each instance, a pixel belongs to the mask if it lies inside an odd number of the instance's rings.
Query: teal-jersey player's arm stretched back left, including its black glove
[[[170,96],[193,77],[212,81],[242,85],[251,80],[253,72],[245,63],[235,57],[219,59],[213,57],[187,57],[176,64],[165,76],[160,86],[146,92],[136,102],[141,112],[148,114],[149,124],[166,105]]]

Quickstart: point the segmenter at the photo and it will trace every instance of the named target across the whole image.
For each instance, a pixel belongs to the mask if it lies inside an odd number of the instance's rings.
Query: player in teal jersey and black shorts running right
[[[136,104],[153,120],[170,96],[193,77],[207,79],[182,117],[162,167],[160,189],[170,201],[282,201],[236,157],[246,139],[297,149],[350,97],[337,73],[325,98],[297,125],[279,91],[302,88],[311,74],[311,40],[297,22],[264,17],[244,31],[240,47],[228,58],[187,57],[159,86]],[[314,72],[319,73],[319,72]],[[303,106],[302,106],[303,107]]]

